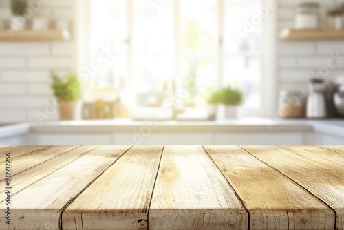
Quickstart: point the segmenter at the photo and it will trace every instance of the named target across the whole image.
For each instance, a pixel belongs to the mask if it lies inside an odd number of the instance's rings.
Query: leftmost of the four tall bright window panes
[[[116,50],[111,59],[101,61],[94,71],[98,87],[123,87],[127,76],[127,5],[125,0],[91,1],[90,60],[97,60],[104,49]],[[103,56],[106,58],[106,56]]]

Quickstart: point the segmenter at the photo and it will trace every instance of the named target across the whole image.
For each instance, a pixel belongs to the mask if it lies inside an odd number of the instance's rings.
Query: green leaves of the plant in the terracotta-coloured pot
[[[59,102],[61,101],[77,101],[81,96],[81,84],[78,76],[69,74],[65,78],[60,78],[56,74],[52,74],[52,89],[54,96]]]

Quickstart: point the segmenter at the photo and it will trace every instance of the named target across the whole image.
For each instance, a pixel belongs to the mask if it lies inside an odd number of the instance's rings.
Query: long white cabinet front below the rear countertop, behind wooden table
[[[28,142],[30,145],[305,145],[305,135],[303,132],[31,132]]]

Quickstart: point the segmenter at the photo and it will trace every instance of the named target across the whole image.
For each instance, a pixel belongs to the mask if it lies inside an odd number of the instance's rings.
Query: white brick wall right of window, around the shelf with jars
[[[284,28],[294,27],[294,14],[298,3],[305,0],[279,1],[277,12],[277,32]],[[327,8],[339,0],[315,0],[321,4],[321,26],[325,26]],[[330,53],[339,52],[344,56],[343,41],[277,41],[277,97],[279,90],[306,88],[306,79],[314,71],[326,66]],[[338,67],[330,70],[326,79],[334,79],[338,74],[344,74],[344,59]],[[277,105],[275,105],[277,107]]]

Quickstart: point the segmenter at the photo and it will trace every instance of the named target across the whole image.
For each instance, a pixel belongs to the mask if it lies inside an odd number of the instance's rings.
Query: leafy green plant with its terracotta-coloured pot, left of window
[[[52,79],[52,89],[60,107],[60,119],[75,120],[81,110],[81,85],[78,76],[69,74],[65,78],[60,78],[52,74]]]

